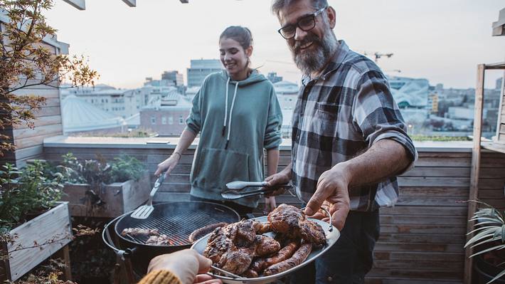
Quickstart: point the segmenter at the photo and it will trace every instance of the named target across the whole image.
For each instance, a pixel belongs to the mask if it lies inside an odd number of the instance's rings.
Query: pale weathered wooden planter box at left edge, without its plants
[[[14,281],[72,241],[68,203],[58,202],[58,206],[14,228],[10,234],[14,241],[1,243],[2,251],[9,252],[9,259],[0,263],[4,268],[0,279]]]

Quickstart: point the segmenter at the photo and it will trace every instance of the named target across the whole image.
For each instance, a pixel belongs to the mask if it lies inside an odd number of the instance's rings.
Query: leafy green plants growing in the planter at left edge
[[[0,170],[0,231],[9,231],[23,223],[29,214],[36,214],[55,206],[60,200],[63,174],[52,177],[44,173],[45,164],[35,161],[19,170],[5,164]]]

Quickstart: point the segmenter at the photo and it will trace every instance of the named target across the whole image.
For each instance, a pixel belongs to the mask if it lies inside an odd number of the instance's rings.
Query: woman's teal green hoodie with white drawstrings
[[[208,75],[193,98],[186,124],[186,130],[201,132],[191,169],[191,195],[204,199],[223,200],[220,194],[228,182],[262,181],[263,149],[276,149],[282,140],[277,95],[257,71],[242,81],[231,80],[225,70]],[[256,207],[258,199],[235,202]]]

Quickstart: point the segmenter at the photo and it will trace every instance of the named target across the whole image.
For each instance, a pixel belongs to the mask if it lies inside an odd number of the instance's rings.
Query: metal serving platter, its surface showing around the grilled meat
[[[251,220],[255,220],[260,223],[265,223],[267,221],[267,216],[261,216],[261,217],[253,218]],[[270,276],[260,276],[257,278],[232,278],[232,277],[228,277],[228,276],[216,275],[213,273],[208,273],[208,274],[213,275],[214,278],[218,278],[218,279],[222,280],[223,283],[228,283],[228,284],[240,284],[240,283],[248,283],[248,284],[264,284],[265,283],[266,284],[266,283],[272,283],[279,278],[285,277],[286,275],[289,275],[290,273],[293,273],[294,271],[299,270],[300,268],[311,263],[317,257],[321,256],[323,253],[328,251],[329,248],[331,248],[331,246],[333,246],[340,237],[339,230],[337,230],[333,225],[331,225],[331,223],[326,223],[321,220],[310,219],[310,218],[309,218],[309,220],[312,220],[316,223],[319,223],[319,225],[321,225],[321,227],[324,230],[324,233],[326,234],[326,245],[322,246],[320,248],[313,248],[312,253],[310,253],[309,256],[307,257],[307,259],[303,263],[301,263],[300,265],[297,265],[294,268],[286,270],[282,273],[278,273],[278,274],[270,275]],[[265,233],[265,235],[273,237],[273,236],[275,236],[275,233],[269,232],[269,233]],[[203,254],[203,251],[205,250],[205,248],[207,246],[208,238],[210,236],[211,236],[211,233],[209,233],[207,236],[204,236],[203,238],[200,238],[198,241],[193,243],[193,246],[191,246],[191,248],[198,251],[198,253]]]

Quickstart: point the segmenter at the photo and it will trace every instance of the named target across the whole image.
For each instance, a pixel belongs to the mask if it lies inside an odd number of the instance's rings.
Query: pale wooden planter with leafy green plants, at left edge
[[[0,279],[17,280],[72,241],[62,174],[46,177],[43,164],[0,170]]]

